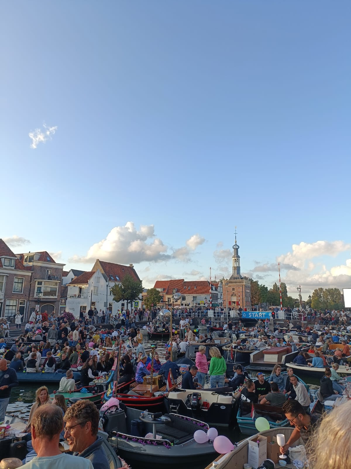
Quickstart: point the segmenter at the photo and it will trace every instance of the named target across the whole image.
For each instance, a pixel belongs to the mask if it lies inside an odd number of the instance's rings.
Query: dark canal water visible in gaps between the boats
[[[145,337],[145,336],[144,336]],[[150,342],[149,340],[144,339],[143,345],[144,347],[147,347],[148,345],[157,345],[157,352],[160,356],[161,363],[164,362],[164,356],[166,355],[166,340],[153,340]],[[302,378],[306,382],[306,377]],[[308,384],[311,385],[319,385],[319,379],[314,379],[314,378],[308,378],[307,379]],[[23,403],[31,403],[34,402],[35,400],[35,393],[37,389],[37,385],[32,385],[32,384],[26,384],[24,385],[23,383],[20,384],[20,386],[15,387],[12,392],[11,392],[11,398],[10,398],[10,403],[14,402],[23,402]],[[58,384],[53,384],[47,386],[49,389],[49,392],[52,393],[54,390],[58,389],[59,385]],[[242,439],[246,438],[247,435],[241,434],[239,427],[234,427],[234,428],[224,428],[224,427],[217,427],[217,430],[219,432],[219,435],[225,435],[227,436],[233,443],[241,441]],[[212,461],[209,460],[208,464]],[[133,464],[132,469],[141,469],[135,464]],[[145,467],[145,466],[143,466]],[[204,465],[201,464],[199,466],[193,466],[193,469],[204,469]]]

